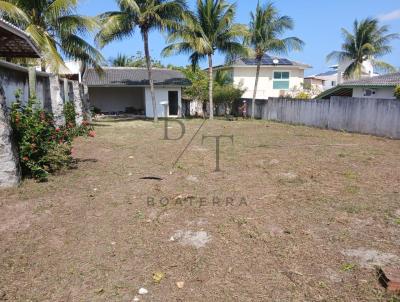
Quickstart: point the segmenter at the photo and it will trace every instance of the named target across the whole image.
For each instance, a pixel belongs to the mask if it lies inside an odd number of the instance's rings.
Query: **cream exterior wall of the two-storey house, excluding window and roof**
[[[293,66],[287,67],[261,67],[260,78],[258,81],[257,99],[267,99],[269,97],[279,97],[281,89],[273,89],[274,71],[288,71],[289,89],[300,88],[304,81],[304,70]],[[253,98],[254,83],[256,78],[256,66],[254,67],[234,67],[233,82],[241,85],[246,92],[243,98]]]

